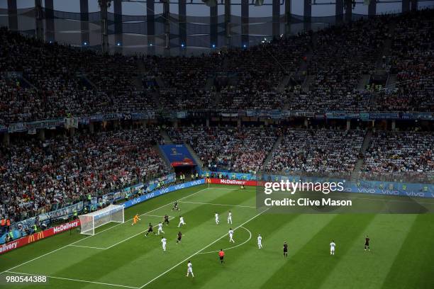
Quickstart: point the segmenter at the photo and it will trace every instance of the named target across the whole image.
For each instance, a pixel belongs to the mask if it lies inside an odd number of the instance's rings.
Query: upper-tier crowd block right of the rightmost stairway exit
[[[385,68],[396,76],[396,89],[376,98],[379,111],[434,111],[434,13],[396,19],[390,55]]]

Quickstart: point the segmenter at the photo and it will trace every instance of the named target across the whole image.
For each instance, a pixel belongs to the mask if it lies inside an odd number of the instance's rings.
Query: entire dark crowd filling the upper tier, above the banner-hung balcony
[[[433,111],[432,17],[428,10],[360,19],[194,57],[104,55],[0,28],[0,124],[157,108]],[[389,38],[391,52],[382,57]],[[372,102],[372,91],[359,86],[380,60],[398,89],[382,90]],[[308,88],[279,90],[301,66]],[[220,74],[233,81],[217,95],[210,86]],[[150,90],[161,90],[157,101]]]

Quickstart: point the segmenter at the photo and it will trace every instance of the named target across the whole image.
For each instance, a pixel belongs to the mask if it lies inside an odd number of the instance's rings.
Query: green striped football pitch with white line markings
[[[174,200],[180,212],[172,211]],[[168,193],[128,208],[125,223],[99,227],[94,236],[73,229],[0,256],[0,287],[434,288],[432,214],[273,215],[255,205],[254,188],[204,185]],[[228,210],[233,225],[226,222]],[[141,220],[131,226],[135,213]],[[165,214],[171,217],[163,228],[167,251],[160,236],[144,236],[148,223],[156,225]],[[187,224],[178,228],[180,215]],[[235,244],[228,239],[230,227]],[[179,231],[181,244],[175,242]],[[363,247],[366,234],[371,251]],[[219,249],[226,251],[223,264]],[[194,278],[186,277],[189,260]],[[26,274],[48,276],[48,283],[4,282]]]

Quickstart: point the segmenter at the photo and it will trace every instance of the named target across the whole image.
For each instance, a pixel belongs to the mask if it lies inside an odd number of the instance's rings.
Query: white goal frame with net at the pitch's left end
[[[123,206],[109,205],[108,207],[90,212],[89,214],[80,215],[80,233],[94,235],[95,229],[106,225],[109,222],[124,222]]]

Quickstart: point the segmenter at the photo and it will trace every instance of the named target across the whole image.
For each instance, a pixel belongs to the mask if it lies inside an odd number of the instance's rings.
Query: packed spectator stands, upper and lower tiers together
[[[121,111],[208,110],[203,117],[182,120],[179,128],[168,128],[168,134],[175,143],[191,145],[210,170],[349,178],[361,162],[365,179],[396,179],[399,173],[425,181],[434,171],[429,130],[377,131],[363,155],[364,128],[306,129],[306,124],[289,129],[294,119],[242,118],[237,113],[240,123],[245,122],[240,127],[213,125],[227,125],[221,111],[432,112],[433,18],[431,10],[361,19],[196,57],[102,55],[0,28],[0,125]],[[383,57],[386,38],[391,47]],[[394,87],[360,88],[364,75],[377,73],[380,60],[389,77],[396,77]],[[309,79],[307,87],[295,83],[277,89],[295,73]],[[214,81],[215,87],[206,89],[217,74],[230,81]],[[150,122],[158,123],[159,117]],[[215,118],[211,127],[189,126],[210,118]],[[162,123],[177,121],[166,120]],[[255,127],[243,127],[249,122]],[[274,128],[260,127],[273,122]],[[143,125],[138,123],[128,125]],[[157,129],[89,133],[83,126],[72,137],[57,132],[37,140],[17,134],[1,147],[0,215],[21,220],[86,193],[98,195],[169,172],[155,148],[163,142]],[[273,151],[279,136],[282,142]]]

